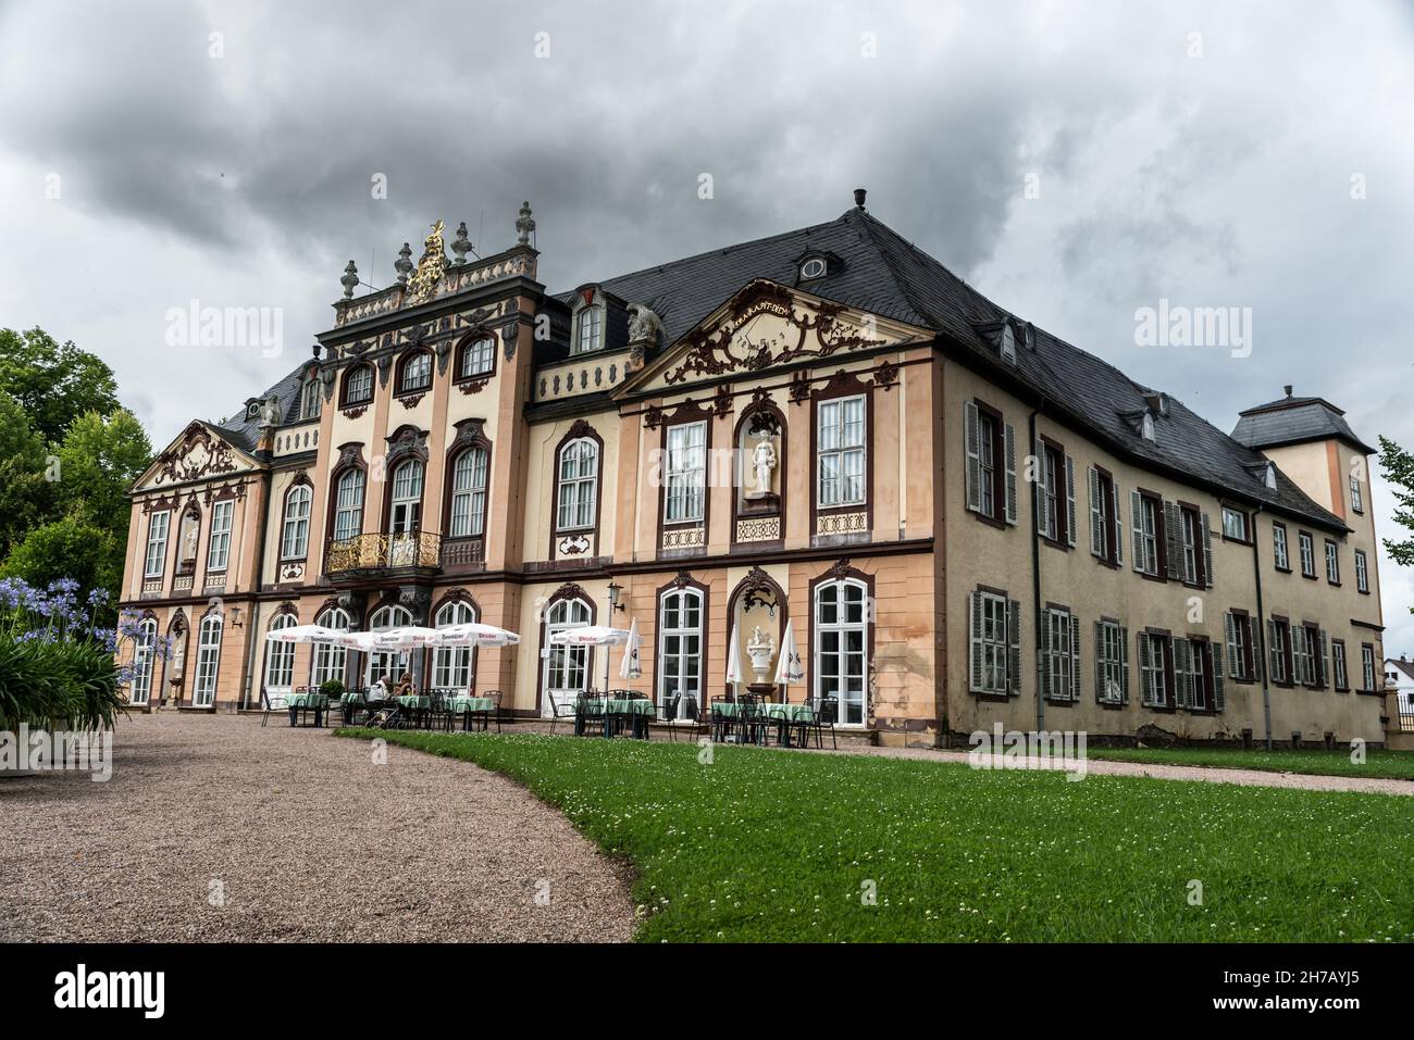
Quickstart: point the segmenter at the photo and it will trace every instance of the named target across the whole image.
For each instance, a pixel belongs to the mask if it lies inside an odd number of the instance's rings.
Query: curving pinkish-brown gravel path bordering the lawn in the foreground
[[[270,718],[122,722],[0,780],[0,941],[622,941],[628,870],[477,766]]]

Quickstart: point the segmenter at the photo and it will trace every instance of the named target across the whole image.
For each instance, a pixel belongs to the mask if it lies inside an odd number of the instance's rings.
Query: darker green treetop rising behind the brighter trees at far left
[[[0,329],[0,391],[14,397],[45,444],[58,444],[79,415],[119,408],[113,370],[41,328]]]

